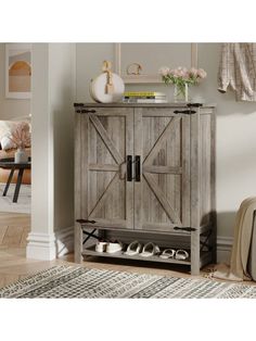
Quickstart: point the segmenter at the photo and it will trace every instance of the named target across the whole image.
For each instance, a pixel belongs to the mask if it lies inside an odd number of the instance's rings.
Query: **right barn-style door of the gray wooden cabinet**
[[[190,224],[190,118],[172,109],[136,109],[135,227],[170,231]],[[140,174],[140,176],[139,176]]]

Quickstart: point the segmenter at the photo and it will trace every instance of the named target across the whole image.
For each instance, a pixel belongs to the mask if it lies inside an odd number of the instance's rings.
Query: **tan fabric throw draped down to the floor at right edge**
[[[229,280],[251,280],[247,271],[249,247],[253,233],[254,212],[256,198],[245,199],[236,213],[234,225],[234,239],[228,271],[215,271],[213,277]]]

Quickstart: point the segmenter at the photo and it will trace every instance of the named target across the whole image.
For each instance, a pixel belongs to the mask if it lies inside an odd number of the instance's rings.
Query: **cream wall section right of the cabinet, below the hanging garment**
[[[220,45],[199,45],[199,63],[208,72],[202,92],[217,103],[218,235],[231,237],[240,203],[256,195],[256,102],[236,102],[231,90],[217,91],[219,52]]]

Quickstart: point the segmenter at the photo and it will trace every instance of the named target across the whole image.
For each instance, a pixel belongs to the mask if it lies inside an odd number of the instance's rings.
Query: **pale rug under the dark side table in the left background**
[[[0,212],[30,213],[31,186],[22,185],[17,202],[13,202],[15,184],[11,184],[7,197],[2,197],[5,185],[0,184]]]

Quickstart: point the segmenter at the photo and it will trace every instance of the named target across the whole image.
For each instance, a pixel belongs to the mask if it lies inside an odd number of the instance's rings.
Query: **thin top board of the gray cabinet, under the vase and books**
[[[193,105],[194,104],[194,105]],[[200,106],[200,108],[216,108],[216,103],[74,103],[74,106],[86,106],[86,108],[188,108],[188,106]]]

